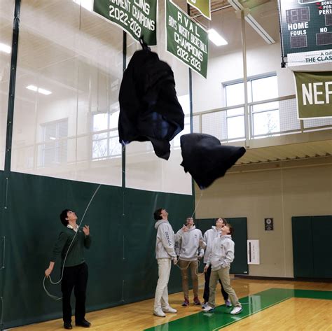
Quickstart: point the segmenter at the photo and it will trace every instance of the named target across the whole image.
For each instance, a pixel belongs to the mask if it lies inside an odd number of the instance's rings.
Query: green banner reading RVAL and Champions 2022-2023
[[[167,51],[207,78],[207,31],[172,1],[165,1]]]

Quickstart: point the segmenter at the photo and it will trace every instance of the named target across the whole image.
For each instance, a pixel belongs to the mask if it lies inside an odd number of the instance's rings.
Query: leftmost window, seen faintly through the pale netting
[[[67,162],[68,118],[41,125],[43,145],[41,145],[41,167],[50,167]]]

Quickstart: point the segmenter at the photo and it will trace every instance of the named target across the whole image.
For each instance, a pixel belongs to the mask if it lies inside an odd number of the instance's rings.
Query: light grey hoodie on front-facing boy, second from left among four
[[[184,261],[195,261],[198,256],[204,254],[205,243],[202,232],[196,229],[195,225],[188,228],[187,232],[180,229],[177,232],[178,238],[175,242],[176,253]]]

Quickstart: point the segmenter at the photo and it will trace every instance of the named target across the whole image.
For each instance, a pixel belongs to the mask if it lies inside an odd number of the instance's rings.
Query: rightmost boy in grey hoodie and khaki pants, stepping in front
[[[212,251],[209,254],[207,265],[204,271],[207,272],[209,265],[212,265],[211,278],[209,283],[210,295],[209,303],[203,311],[213,311],[215,307],[216,284],[218,279],[223,284],[223,289],[226,290],[233,304],[233,309],[230,314],[239,314],[242,311],[242,306],[237,299],[235,291],[230,286],[230,263],[234,260],[234,241],[232,240],[233,227],[230,224],[223,225],[221,235],[216,237],[212,243]]]

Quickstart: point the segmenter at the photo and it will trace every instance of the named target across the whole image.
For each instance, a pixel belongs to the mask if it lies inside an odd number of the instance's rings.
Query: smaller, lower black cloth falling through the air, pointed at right
[[[244,147],[221,146],[219,139],[209,134],[184,134],[180,141],[184,159],[181,166],[193,176],[201,190],[223,177],[246,153]]]

